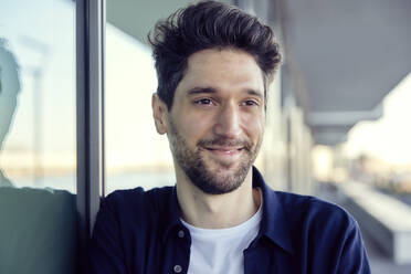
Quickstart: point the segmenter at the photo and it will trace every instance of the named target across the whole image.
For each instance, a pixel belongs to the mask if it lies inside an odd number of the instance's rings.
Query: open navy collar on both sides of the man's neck
[[[275,191],[265,183],[262,175],[255,167],[253,167],[253,188],[261,188],[263,193],[263,218],[257,238],[260,239],[264,235],[283,250],[293,253],[291,228],[283,205],[278,201]],[[177,199],[176,186],[171,188],[165,205],[167,214],[164,219],[164,225],[161,225],[165,228],[162,233],[164,243],[167,242],[170,232],[176,226],[183,228],[180,221],[181,208]]]

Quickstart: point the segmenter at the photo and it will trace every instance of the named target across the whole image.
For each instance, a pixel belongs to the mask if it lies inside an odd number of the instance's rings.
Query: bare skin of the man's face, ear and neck
[[[156,128],[169,138],[177,197],[188,223],[204,229],[230,228],[259,209],[261,194],[252,188],[250,166],[263,139],[264,99],[263,74],[254,57],[233,49],[193,53],[170,110],[154,94]],[[222,193],[204,192],[189,179],[178,157],[181,147],[183,156],[189,152],[201,159]],[[235,175],[242,166],[247,168],[239,182]]]

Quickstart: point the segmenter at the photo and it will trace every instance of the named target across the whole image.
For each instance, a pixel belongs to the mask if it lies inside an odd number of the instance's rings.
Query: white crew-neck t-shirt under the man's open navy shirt
[[[199,229],[181,220],[191,234],[188,274],[242,274],[243,251],[259,233],[262,207],[247,221],[228,229]]]

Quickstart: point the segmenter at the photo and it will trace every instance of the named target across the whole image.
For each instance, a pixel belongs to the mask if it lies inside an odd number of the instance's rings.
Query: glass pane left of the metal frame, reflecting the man
[[[0,9],[0,273],[75,270],[75,4]]]

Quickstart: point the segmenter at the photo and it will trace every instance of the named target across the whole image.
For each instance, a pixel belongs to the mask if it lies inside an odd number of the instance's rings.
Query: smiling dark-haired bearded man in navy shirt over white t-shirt
[[[91,273],[369,273],[346,211],[273,191],[252,167],[280,64],[272,30],[207,1],[159,22],[150,43],[177,183],[103,201]]]

